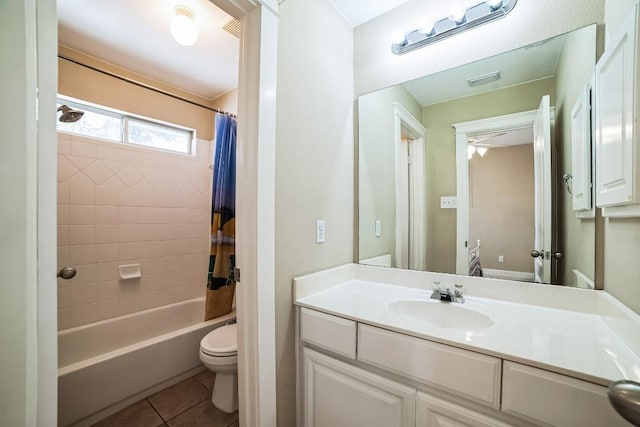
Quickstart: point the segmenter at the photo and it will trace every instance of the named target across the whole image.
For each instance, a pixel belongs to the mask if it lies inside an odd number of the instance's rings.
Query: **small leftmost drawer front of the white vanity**
[[[302,341],[356,358],[356,322],[308,308],[300,309]]]

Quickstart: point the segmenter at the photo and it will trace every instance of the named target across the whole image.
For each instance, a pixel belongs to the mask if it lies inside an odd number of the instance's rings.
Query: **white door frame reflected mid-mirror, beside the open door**
[[[456,134],[456,274],[469,274],[469,248],[465,244],[469,241],[469,137],[532,128],[537,112],[535,109],[451,125]],[[554,107],[550,113],[553,123]]]

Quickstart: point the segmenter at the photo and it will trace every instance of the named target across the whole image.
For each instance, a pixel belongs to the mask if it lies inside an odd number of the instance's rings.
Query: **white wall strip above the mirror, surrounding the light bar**
[[[355,29],[356,94],[361,95],[601,22],[604,3],[604,0],[518,0],[515,9],[503,19],[397,56],[391,52],[390,40],[394,29],[418,28],[423,17],[444,17],[449,13],[450,2],[411,0]]]

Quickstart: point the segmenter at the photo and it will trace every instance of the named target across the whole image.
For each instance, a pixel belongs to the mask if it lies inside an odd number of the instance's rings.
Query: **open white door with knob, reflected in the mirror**
[[[542,97],[533,121],[534,169],[534,276],[538,283],[551,282],[551,105]]]

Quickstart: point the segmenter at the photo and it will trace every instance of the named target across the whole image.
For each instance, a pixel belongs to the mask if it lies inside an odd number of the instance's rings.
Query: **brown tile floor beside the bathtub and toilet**
[[[94,424],[94,427],[238,427],[238,413],[211,404],[215,374],[203,371]]]

